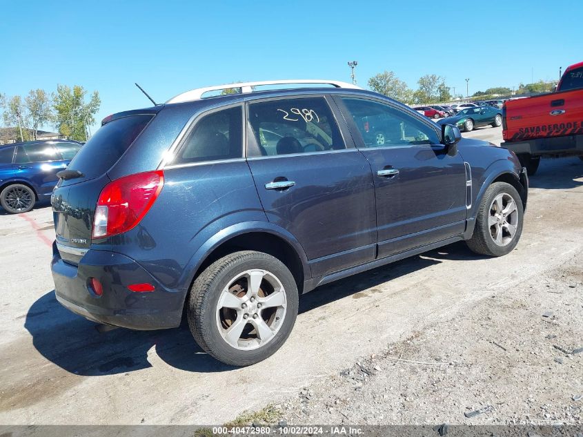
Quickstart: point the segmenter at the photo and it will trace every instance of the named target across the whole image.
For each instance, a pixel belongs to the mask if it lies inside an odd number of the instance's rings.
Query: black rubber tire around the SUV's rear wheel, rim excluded
[[[230,285],[228,282],[237,275],[253,269],[266,270],[281,282],[286,295],[285,315],[277,333],[266,344],[257,349],[237,349],[221,336],[217,305],[222,291]],[[210,264],[192,284],[187,304],[188,325],[199,346],[228,365],[248,366],[271,356],[290,335],[297,317],[297,285],[288,268],[277,258],[261,252],[240,251]],[[261,311],[257,310],[257,313],[259,317],[264,317]],[[233,326],[238,317],[236,315],[230,326]],[[247,327],[248,323],[245,326]]]

